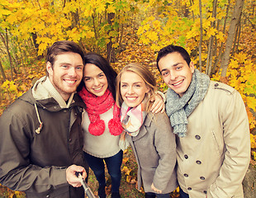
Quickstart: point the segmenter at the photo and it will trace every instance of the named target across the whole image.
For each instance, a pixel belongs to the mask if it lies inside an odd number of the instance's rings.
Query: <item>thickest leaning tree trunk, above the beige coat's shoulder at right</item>
[[[239,16],[243,10],[244,0],[237,0],[235,2],[234,12],[230,22],[230,31],[226,40],[225,51],[221,60],[220,68],[222,68],[220,76],[225,78],[227,68],[230,62],[230,51],[235,37],[235,29],[239,22]]]

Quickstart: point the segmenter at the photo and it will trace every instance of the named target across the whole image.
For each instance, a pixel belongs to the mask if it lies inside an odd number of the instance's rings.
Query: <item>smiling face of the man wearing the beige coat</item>
[[[178,52],[165,55],[159,60],[159,70],[167,86],[180,97],[187,91],[194,73],[194,64],[189,65]]]

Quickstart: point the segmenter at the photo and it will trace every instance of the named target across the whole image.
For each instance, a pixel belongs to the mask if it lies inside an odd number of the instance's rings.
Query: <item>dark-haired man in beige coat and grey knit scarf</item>
[[[182,47],[159,51],[168,85],[166,112],[177,134],[181,198],[244,197],[249,121],[239,92],[200,73]]]

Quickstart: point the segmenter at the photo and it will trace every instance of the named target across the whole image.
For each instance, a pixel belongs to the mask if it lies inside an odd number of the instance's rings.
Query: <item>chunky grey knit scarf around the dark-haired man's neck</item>
[[[183,97],[168,88],[166,95],[166,113],[173,126],[173,133],[183,138],[187,134],[187,117],[206,96],[210,78],[195,69],[192,81]]]

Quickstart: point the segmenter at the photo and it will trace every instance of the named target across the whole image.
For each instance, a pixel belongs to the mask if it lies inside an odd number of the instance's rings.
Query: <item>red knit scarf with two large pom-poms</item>
[[[98,136],[104,133],[105,122],[101,120],[100,115],[107,112],[112,106],[114,106],[113,118],[108,122],[108,129],[112,135],[121,134],[123,128],[120,121],[120,109],[116,106],[114,97],[109,89],[106,90],[102,97],[97,97],[83,87],[82,90],[78,92],[78,95],[86,104],[86,111],[91,121],[88,128],[90,134]]]

